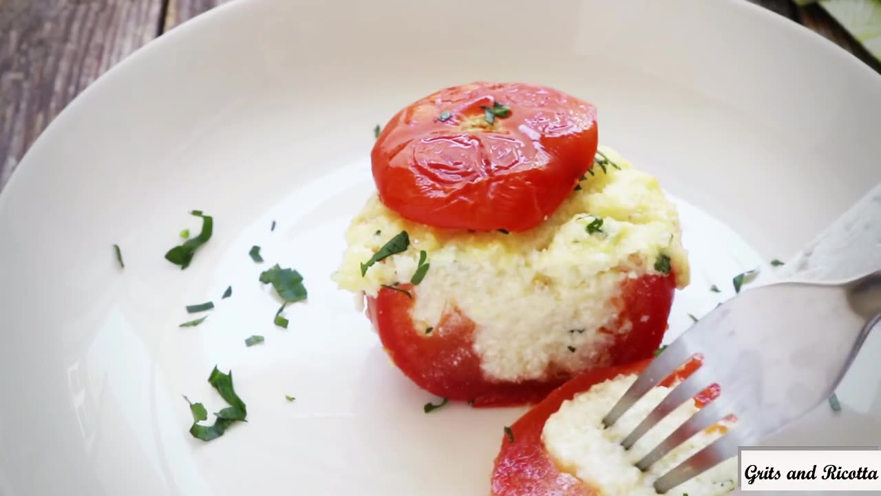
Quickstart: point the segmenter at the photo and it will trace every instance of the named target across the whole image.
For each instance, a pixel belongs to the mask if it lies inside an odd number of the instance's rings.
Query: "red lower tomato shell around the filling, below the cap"
[[[616,302],[621,309],[616,326],[630,321],[633,328],[627,334],[617,334],[617,327],[606,331],[617,337],[606,350],[604,364],[626,364],[653,356],[667,327],[675,281],[674,274],[627,280]],[[409,284],[398,288],[418,297]],[[431,334],[426,334],[425,329],[413,327],[410,311],[414,301],[401,291],[382,288],[376,297],[367,298],[368,316],[392,361],[433,395],[468,401],[475,407],[532,404],[572,377],[556,373],[544,380],[488,380],[473,349],[474,322],[458,309],[448,308]],[[649,319],[642,321],[643,316]]]

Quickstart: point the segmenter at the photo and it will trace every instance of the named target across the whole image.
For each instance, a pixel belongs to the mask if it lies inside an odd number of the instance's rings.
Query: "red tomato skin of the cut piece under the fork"
[[[554,390],[532,410],[520,417],[511,426],[514,442],[511,442],[507,435],[502,437],[499,455],[496,457],[492,470],[491,496],[594,496],[598,494],[578,477],[559,470],[551,455],[544,449],[542,442],[544,423],[559,410],[563,402],[571,400],[575,395],[587,391],[595,384],[614,379],[620,374],[638,374],[650,362],[651,360],[647,359],[632,364],[583,372]],[[663,380],[661,385],[670,386],[678,380],[684,380],[699,366],[698,360],[692,360]],[[707,390],[701,395],[704,401],[708,402],[718,395],[718,391]],[[696,404],[700,406],[699,402]]]

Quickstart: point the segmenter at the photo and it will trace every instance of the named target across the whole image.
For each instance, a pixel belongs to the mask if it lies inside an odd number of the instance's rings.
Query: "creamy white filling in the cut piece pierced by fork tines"
[[[689,456],[722,436],[722,429],[711,427],[695,434],[679,445],[648,471],[636,468],[642,456],[663,441],[670,432],[698,411],[694,402],[685,402],[655,425],[629,450],[620,442],[670,391],[655,387],[618,419],[615,425],[603,428],[603,417],[636,380],[636,375],[619,375],[613,380],[596,384],[560,405],[548,418],[542,431],[544,448],[561,470],[565,470],[594,487],[603,496],[656,496],[652,486],[658,477],[684,462]],[[698,477],[677,485],[668,494],[714,496],[733,491],[737,481],[737,457],[732,457]]]

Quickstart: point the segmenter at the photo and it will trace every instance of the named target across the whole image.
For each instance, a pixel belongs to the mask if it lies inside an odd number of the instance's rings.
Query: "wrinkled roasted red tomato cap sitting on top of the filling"
[[[507,117],[485,122],[484,107]],[[441,120],[441,115],[448,118]],[[484,127],[481,127],[484,126]],[[437,228],[536,227],[593,166],[596,107],[545,86],[453,86],[393,116],[376,140],[374,182],[386,207]]]

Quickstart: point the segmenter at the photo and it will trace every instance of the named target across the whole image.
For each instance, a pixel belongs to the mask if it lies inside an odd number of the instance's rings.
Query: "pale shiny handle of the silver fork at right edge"
[[[881,270],[881,184],[781,268],[785,279],[811,282],[851,280]]]

